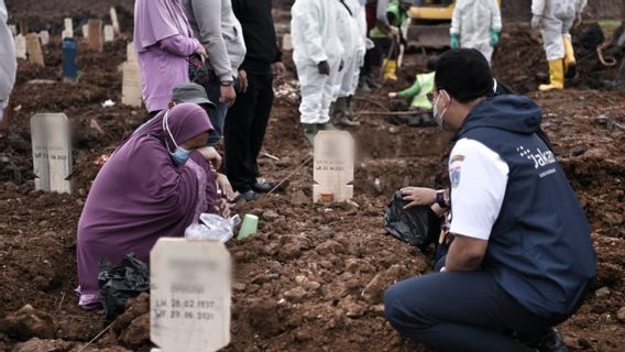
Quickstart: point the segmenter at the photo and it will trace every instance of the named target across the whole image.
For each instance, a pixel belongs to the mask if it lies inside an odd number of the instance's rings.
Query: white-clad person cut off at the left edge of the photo
[[[0,0],[0,122],[4,119],[4,108],[9,105],[9,96],[15,84],[18,62],[13,34],[7,25],[9,13],[4,0]]]

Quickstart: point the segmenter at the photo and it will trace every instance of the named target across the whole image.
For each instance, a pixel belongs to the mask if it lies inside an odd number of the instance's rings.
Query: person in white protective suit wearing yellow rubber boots
[[[581,14],[586,0],[531,0],[531,28],[540,30],[549,62],[549,84],[538,90],[564,88],[564,76],[575,73],[575,55],[569,31]]]

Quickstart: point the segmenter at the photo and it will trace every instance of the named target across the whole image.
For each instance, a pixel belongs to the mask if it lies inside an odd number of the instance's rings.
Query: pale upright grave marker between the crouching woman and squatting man
[[[319,131],[315,136],[312,201],[321,195],[329,201],[346,201],[353,197],[354,141],[346,131]],[[325,200],[328,201],[328,200]]]

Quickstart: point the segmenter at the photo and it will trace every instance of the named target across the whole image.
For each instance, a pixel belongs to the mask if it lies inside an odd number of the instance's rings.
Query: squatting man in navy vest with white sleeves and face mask
[[[437,351],[568,351],[552,327],[578,310],[595,275],[590,229],[537,134],[538,106],[492,89],[480,52],[437,62],[434,118],[457,131],[451,188],[402,191],[407,207],[449,208],[454,240],[436,273],[387,289],[385,316]]]

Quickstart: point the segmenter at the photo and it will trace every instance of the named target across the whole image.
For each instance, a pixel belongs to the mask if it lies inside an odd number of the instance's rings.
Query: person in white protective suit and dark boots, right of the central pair
[[[359,127],[360,122],[351,120],[351,97],[358,88],[360,67],[364,63],[366,40],[366,14],[360,0],[336,0],[338,35],[343,45],[343,69],[337,73],[335,98],[331,118],[332,124]]]

